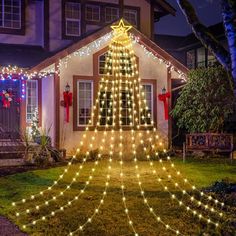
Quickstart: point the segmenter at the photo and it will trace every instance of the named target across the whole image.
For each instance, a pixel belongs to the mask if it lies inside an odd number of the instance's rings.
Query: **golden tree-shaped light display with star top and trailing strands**
[[[207,196],[203,192],[197,190],[195,186],[191,185],[191,188],[195,191],[199,191],[200,196],[202,197],[202,200],[196,199],[194,196],[188,193],[187,190],[180,186],[180,184],[174,179],[174,176],[169,174],[163,159],[159,156],[160,150],[164,153],[166,150],[163,148],[164,144],[158,136],[157,129],[155,128],[155,124],[152,121],[150,108],[145,99],[145,93],[143,92],[141,79],[139,77],[137,59],[133,50],[133,40],[128,33],[131,28],[132,27],[130,25],[125,25],[123,20],[121,20],[118,25],[112,26],[113,38],[111,39],[109,50],[106,56],[105,75],[102,76],[100,80],[96,104],[94,105],[93,111],[91,113],[91,120],[89,120],[89,124],[83,134],[80,146],[77,149],[77,154],[80,154],[82,152],[82,147],[84,147],[85,141],[87,140],[89,142],[85,157],[83,158],[82,163],[79,165],[78,171],[76,171],[75,175],[72,177],[70,184],[68,184],[58,195],[52,195],[50,199],[47,199],[41,205],[36,205],[34,208],[28,208],[23,212],[16,212],[16,216],[20,217],[35,211],[40,212],[43,206],[48,206],[51,204],[51,202],[56,202],[58,198],[63,197],[65,192],[79,180],[80,171],[83,169],[83,166],[89,157],[89,152],[94,149],[95,143],[100,141],[101,143],[98,154],[99,159],[94,162],[94,167],[90,171],[84,188],[82,188],[79,193],[67,203],[60,205],[57,207],[57,209],[51,211],[50,213],[41,215],[40,218],[34,219],[32,222],[23,225],[23,229],[33,227],[38,222],[48,220],[50,217],[55,216],[58,212],[62,212],[66,208],[73,207],[73,203],[76,202],[86,191],[86,188],[94,177],[96,169],[99,168],[100,158],[102,158],[103,154],[106,153],[108,154],[107,174],[104,181],[104,190],[99,204],[94,208],[94,212],[90,217],[87,218],[85,222],[82,222],[80,225],[78,225],[77,229],[73,229],[71,232],[67,233],[68,235],[75,235],[79,231],[83,231],[87,224],[92,223],[93,218],[99,214],[100,208],[104,204],[110,184],[109,181],[112,175],[112,161],[114,158],[118,158],[120,165],[121,198],[124,211],[127,216],[128,224],[130,225],[134,235],[137,236],[138,232],[134,226],[132,218],[129,214],[128,206],[126,204],[126,187],[123,181],[125,175],[123,172],[123,166],[125,164],[125,155],[127,155],[127,147],[125,143],[126,136],[130,138],[130,144],[132,147],[129,155],[133,158],[133,163],[136,170],[134,175],[138,181],[140,195],[143,199],[143,203],[147,206],[147,209],[150,212],[150,217],[154,217],[158,223],[163,225],[170,232],[176,235],[183,235],[178,229],[169,225],[167,222],[165,222],[165,220],[162,219],[160,215],[158,215],[146,197],[140,179],[141,174],[139,171],[139,161],[137,157],[138,146],[142,147],[143,153],[145,154],[145,157],[150,165],[149,171],[156,177],[157,183],[161,184],[163,190],[169,193],[170,198],[175,200],[182,210],[191,212],[193,216],[199,218],[199,220],[207,224],[211,224],[215,227],[219,226],[219,223],[216,219],[218,217],[221,218],[223,213],[221,209],[217,209],[217,207],[224,206],[224,204],[210,196]],[[88,131],[92,130],[91,124],[95,124],[95,128],[93,128],[93,135],[88,136]],[[99,132],[103,133],[102,139],[100,139],[101,136],[98,135]],[[106,142],[109,143],[109,150],[107,150],[105,147]],[[173,185],[178,188],[181,193],[185,195],[193,204],[189,204],[187,201],[184,202],[184,200],[180,200],[178,196],[173,194],[171,190],[168,189],[168,187],[160,178],[157,169],[155,168],[155,162],[152,161],[152,156],[155,156],[155,158],[159,160],[159,163],[162,166],[162,171],[165,173],[167,179],[170,180]],[[73,161],[75,159],[76,155],[68,163],[64,173],[59,176],[52,186],[39,192],[38,194],[32,195],[29,199],[22,199],[19,202],[12,203],[12,205],[17,207],[20,204],[33,201],[34,199],[43,196],[45,192],[49,193],[54,188],[54,186],[60,184],[60,181],[62,181],[64,175],[70,171],[70,167],[73,165]],[[167,156],[167,161],[171,163],[171,169],[174,170],[176,175],[181,177],[181,173],[175,169],[175,165],[169,156]],[[181,179],[185,184],[190,184],[187,179]],[[209,203],[204,203],[204,200],[207,200]],[[212,207],[210,202],[214,203],[216,207]],[[193,205],[196,206],[196,208],[194,208]],[[202,212],[202,210],[204,211]],[[214,219],[209,217],[208,212],[210,212],[211,215],[215,215]]]

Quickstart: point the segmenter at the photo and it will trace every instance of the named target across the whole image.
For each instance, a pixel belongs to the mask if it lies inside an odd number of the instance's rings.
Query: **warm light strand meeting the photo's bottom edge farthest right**
[[[130,88],[130,90],[132,91],[132,86]],[[131,97],[127,97],[128,99],[130,98],[130,102],[132,103],[134,101],[134,99],[132,100]],[[130,110],[129,110],[130,111]],[[142,188],[142,183],[140,181],[140,173],[139,173],[139,166],[138,166],[138,159],[137,159],[137,147],[136,147],[136,144],[135,144],[135,137],[136,137],[136,133],[135,133],[135,130],[134,130],[134,127],[139,127],[139,122],[136,118],[138,118],[137,116],[137,111],[135,110],[135,104],[133,103],[133,114],[131,113],[130,111],[130,116],[133,116],[133,122],[130,122],[130,127],[131,127],[131,144],[132,144],[132,155],[133,155],[133,161],[134,161],[134,167],[135,167],[135,170],[136,170],[136,177],[137,177],[137,181],[138,181],[138,186],[139,186],[139,189],[140,189],[140,194],[143,198],[143,202],[144,204],[147,206],[149,212],[154,216],[155,220],[162,224],[165,229],[167,230],[170,230],[172,231],[173,233],[175,233],[176,235],[183,235],[182,233],[180,233],[179,230],[175,230],[174,228],[172,228],[170,225],[166,224],[159,215],[157,215],[153,209],[152,206],[150,206],[149,202],[148,202],[148,199],[147,197],[145,196],[145,192],[144,192],[144,189]],[[136,120],[136,121],[135,121]],[[146,121],[145,121],[146,123]],[[139,128],[137,128],[139,129]]]

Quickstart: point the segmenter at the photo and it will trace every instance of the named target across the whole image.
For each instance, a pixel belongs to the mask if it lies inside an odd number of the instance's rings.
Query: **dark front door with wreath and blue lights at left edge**
[[[10,94],[7,104],[4,93]],[[0,80],[0,139],[20,137],[20,80]]]

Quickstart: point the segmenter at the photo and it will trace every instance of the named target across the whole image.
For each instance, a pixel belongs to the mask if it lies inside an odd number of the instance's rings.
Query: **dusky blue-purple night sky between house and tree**
[[[207,26],[221,21],[220,0],[189,0],[200,18]],[[180,10],[176,0],[167,0],[177,11],[176,16],[168,15],[156,23],[155,30],[158,34],[186,35],[191,29],[186,18]]]

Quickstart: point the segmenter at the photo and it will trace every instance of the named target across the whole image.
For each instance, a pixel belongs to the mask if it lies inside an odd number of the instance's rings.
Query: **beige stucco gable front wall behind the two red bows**
[[[106,45],[104,45],[105,47]],[[101,50],[101,49],[100,49]],[[134,46],[134,51],[139,57],[139,68],[141,79],[155,79],[157,81],[157,94],[161,88],[167,87],[167,68],[164,64],[159,64],[151,58],[144,55],[144,51],[140,45]],[[60,100],[62,100],[63,90],[65,85],[69,83],[71,90],[73,90],[73,76],[74,75],[93,75],[93,55],[84,57],[72,57],[69,59],[67,66],[61,66],[60,77]],[[70,108],[70,122],[65,123],[65,111],[60,107],[60,132],[61,132],[61,147],[66,148],[69,154],[73,153],[79,146],[79,142],[84,132],[73,131],[73,109]],[[160,135],[167,138],[168,136],[168,122],[164,120],[163,104],[157,102],[157,123]],[[91,136],[90,136],[91,137]],[[72,151],[72,152],[71,152]]]

